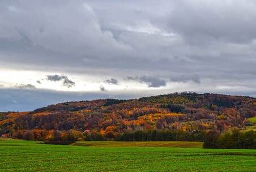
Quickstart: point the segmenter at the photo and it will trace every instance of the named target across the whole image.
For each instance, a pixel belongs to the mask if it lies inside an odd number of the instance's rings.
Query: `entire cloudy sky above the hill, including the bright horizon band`
[[[256,97],[256,1],[0,1],[0,111],[193,91]]]

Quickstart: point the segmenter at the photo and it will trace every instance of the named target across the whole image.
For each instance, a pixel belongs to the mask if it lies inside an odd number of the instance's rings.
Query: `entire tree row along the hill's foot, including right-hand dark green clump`
[[[59,130],[18,130],[14,139],[43,140],[46,144],[71,144],[75,141],[203,141],[203,148],[256,149],[256,131],[238,131],[236,129],[220,134],[219,131],[182,130],[138,130],[109,136],[97,131],[59,131]]]

